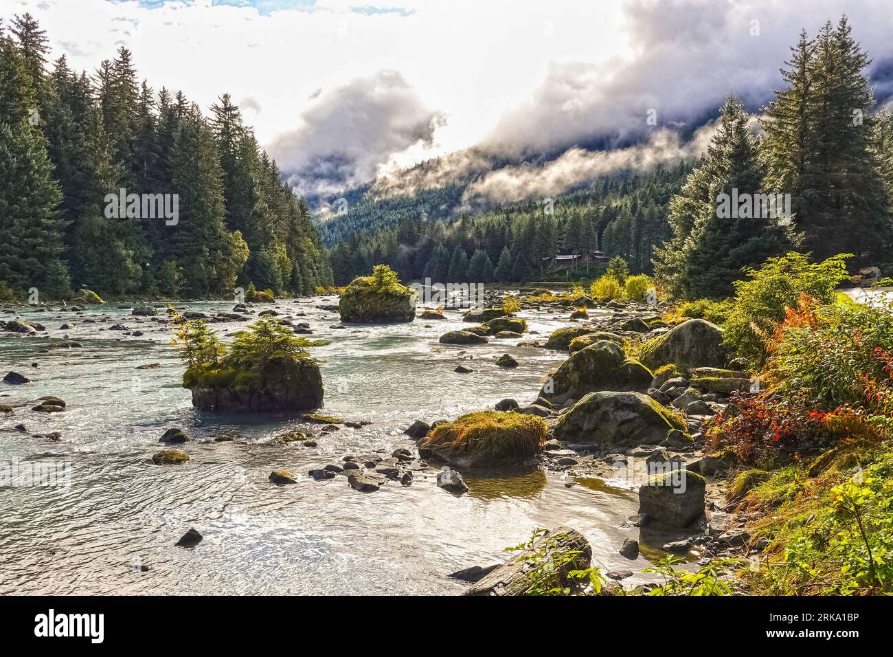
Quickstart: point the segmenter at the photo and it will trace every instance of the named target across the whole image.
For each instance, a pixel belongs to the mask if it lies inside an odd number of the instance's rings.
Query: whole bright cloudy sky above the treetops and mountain
[[[758,110],[800,29],[843,12],[893,91],[889,0],[0,0],[26,11],[74,68],[124,45],[156,89],[205,109],[229,92],[305,193],[434,156],[447,179],[481,153],[557,162],[559,186],[617,160],[602,149],[678,158],[731,89]]]

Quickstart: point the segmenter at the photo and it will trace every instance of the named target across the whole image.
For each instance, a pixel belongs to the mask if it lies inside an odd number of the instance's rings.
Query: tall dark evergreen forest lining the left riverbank
[[[0,30],[0,296],[330,284],[307,206],[228,95],[205,116],[179,91],[139,82],[123,46],[76,72],[64,57],[46,62],[45,30],[29,14]],[[106,197],[131,194],[170,195],[177,216],[140,218],[135,207],[110,218]]]

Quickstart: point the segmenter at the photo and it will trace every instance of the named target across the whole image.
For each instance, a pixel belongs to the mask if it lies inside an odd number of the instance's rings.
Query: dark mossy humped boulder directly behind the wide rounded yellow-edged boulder
[[[539,394],[562,403],[599,390],[646,391],[652,378],[646,366],[634,358],[626,358],[620,347],[603,340],[573,353],[555,370]]]

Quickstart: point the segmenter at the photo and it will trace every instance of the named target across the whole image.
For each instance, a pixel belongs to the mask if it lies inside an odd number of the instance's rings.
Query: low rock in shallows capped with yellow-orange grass
[[[540,417],[484,410],[436,426],[424,446],[455,457],[524,459],[543,449],[546,432],[546,423]]]

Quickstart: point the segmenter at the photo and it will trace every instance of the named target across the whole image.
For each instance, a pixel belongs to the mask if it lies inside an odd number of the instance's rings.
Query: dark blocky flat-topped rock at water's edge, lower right
[[[690,470],[672,469],[638,488],[638,513],[648,524],[689,526],[704,516],[706,480]]]

